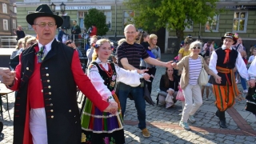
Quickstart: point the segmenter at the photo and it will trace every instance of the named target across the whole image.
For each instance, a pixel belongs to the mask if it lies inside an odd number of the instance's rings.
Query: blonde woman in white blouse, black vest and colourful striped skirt
[[[105,113],[86,99],[86,105],[82,110],[82,143],[125,143],[122,126],[122,113],[118,97],[114,94],[116,82],[124,82],[126,85],[139,86],[140,78],[149,79],[149,74],[138,74],[137,70],[124,70],[112,62],[108,62],[112,47],[108,39],[100,39],[96,42],[93,54],[93,62],[88,69],[88,77],[95,86],[102,99],[110,103],[118,103],[118,112]],[[140,70],[144,73],[146,70]]]

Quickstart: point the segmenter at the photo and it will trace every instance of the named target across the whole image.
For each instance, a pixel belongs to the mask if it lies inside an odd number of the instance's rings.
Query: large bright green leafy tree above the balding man
[[[178,42],[184,36],[186,26],[213,21],[218,0],[127,0],[125,5],[138,14],[134,17],[136,26],[143,30],[158,30],[161,27],[175,30]]]

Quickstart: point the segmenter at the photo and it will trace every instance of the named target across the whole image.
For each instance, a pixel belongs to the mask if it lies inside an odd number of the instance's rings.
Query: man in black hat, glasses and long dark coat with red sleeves
[[[77,50],[54,38],[62,18],[46,4],[38,6],[26,21],[38,34],[38,43],[24,50],[15,78],[3,77],[10,90],[18,90],[14,105],[14,144],[78,144],[81,122],[77,86],[98,109],[114,114],[110,105],[83,73]],[[32,137],[31,137],[32,136]]]

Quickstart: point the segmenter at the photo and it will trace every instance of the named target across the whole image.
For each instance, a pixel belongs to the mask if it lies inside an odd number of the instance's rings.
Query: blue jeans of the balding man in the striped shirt
[[[119,83],[118,99],[121,105],[122,116],[124,116],[126,111],[128,94],[131,94],[134,98],[135,107],[138,114],[138,128],[143,130],[146,128],[146,103],[145,99],[143,98],[144,88],[140,86],[132,87],[122,82]]]

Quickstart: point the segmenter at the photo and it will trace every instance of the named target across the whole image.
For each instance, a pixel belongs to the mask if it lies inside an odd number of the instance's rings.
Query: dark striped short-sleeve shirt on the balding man
[[[118,66],[122,67],[121,59],[127,58],[128,62],[131,66],[139,69],[140,60],[148,58],[149,54],[147,54],[146,49],[138,43],[130,45],[127,42],[122,42],[120,46],[117,48],[118,54]]]

